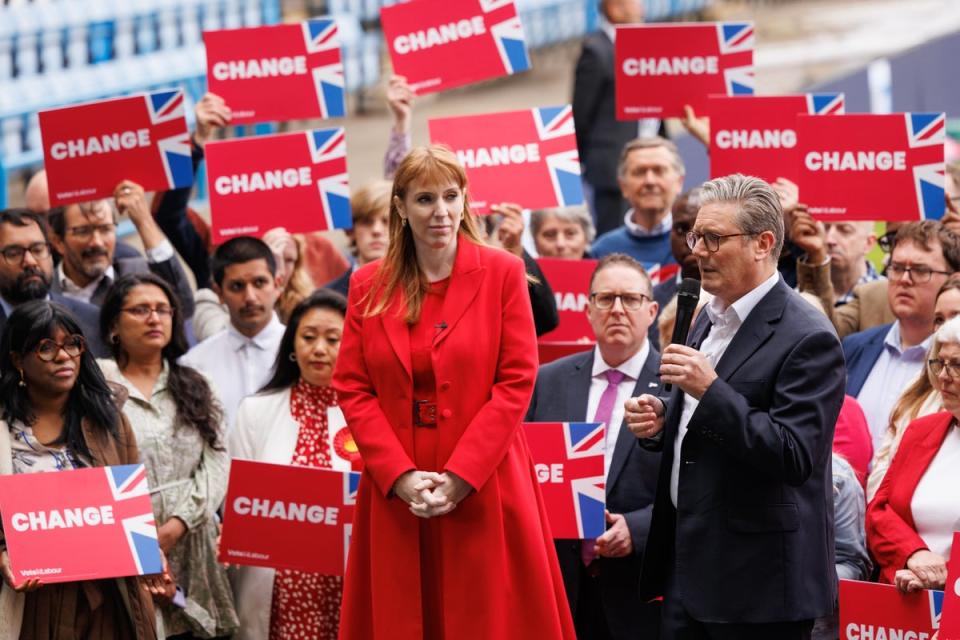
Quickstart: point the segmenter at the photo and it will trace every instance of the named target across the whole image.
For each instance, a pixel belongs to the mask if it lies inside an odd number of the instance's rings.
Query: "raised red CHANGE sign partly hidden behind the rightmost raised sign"
[[[842,93],[710,96],[710,176],[731,173],[797,182],[797,116],[843,113]]]

